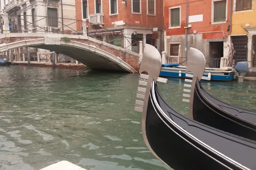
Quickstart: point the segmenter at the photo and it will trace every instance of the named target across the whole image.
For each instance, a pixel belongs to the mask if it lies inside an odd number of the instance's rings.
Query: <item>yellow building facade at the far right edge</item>
[[[236,61],[256,67],[256,0],[233,0],[231,41]]]

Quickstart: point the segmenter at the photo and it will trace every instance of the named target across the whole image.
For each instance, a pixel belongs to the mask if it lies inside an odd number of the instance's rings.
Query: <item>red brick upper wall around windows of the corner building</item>
[[[113,22],[123,21],[122,26],[158,27],[163,28],[163,0],[156,0],[156,16],[147,15],[147,1],[141,0],[142,14],[131,14],[131,0],[127,0],[127,7],[118,0],[118,14],[110,16],[109,0],[102,0],[105,28],[112,28]],[[88,0],[89,14],[95,14],[94,0]],[[81,20],[81,0],[76,0],[76,19]],[[130,22],[131,20],[131,22]],[[136,23],[137,21],[137,23]]]

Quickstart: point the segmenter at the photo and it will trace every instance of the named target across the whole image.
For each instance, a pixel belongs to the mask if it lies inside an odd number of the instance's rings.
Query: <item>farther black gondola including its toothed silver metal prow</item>
[[[183,101],[189,102],[190,117],[219,130],[256,141],[255,112],[218,101],[204,91],[200,86],[199,79],[204,74],[204,55],[196,49],[192,49],[190,54],[192,59],[188,59],[186,73],[192,71],[193,75],[190,75],[192,80],[185,79],[186,82],[191,84],[184,85],[184,91],[190,92],[190,94],[183,94],[183,96],[189,97],[189,99],[184,99]],[[196,57],[193,57],[193,55]],[[201,79],[203,78],[201,77]],[[191,88],[191,90],[188,88]]]

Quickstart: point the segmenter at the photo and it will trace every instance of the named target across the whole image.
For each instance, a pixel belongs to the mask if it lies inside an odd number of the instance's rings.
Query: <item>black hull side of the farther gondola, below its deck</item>
[[[205,96],[197,80],[193,100],[193,119],[247,139],[256,140],[256,126],[214,105],[214,98]],[[231,107],[231,106],[230,106]]]

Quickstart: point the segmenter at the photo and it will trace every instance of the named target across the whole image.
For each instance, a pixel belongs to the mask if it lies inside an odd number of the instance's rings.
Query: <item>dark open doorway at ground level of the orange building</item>
[[[223,57],[223,41],[209,42],[210,45],[210,58],[207,61],[207,66],[210,68],[220,68],[221,57]]]

